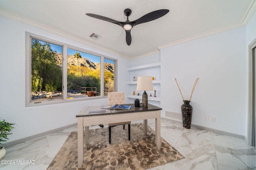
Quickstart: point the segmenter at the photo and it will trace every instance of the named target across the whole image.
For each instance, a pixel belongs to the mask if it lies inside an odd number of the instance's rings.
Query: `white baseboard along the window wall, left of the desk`
[[[45,131],[45,132],[42,132],[42,133],[38,133],[36,135],[32,135],[32,136],[29,136],[29,137],[24,137],[24,138],[21,138],[21,139],[17,139],[15,141],[6,142],[6,143],[3,143],[1,146],[2,147],[10,147],[10,146],[13,146],[13,145],[17,145],[19,143],[24,143],[26,141],[30,141],[30,140],[35,139],[35,138],[39,138],[39,137],[43,137],[45,135],[49,135],[51,133],[60,132],[60,131],[63,131],[64,129],[67,129],[69,127],[73,127],[73,126],[76,126],[76,125],[77,125],[77,123],[73,123],[73,124],[70,124],[70,125],[59,127],[57,129],[52,129],[50,131]]]

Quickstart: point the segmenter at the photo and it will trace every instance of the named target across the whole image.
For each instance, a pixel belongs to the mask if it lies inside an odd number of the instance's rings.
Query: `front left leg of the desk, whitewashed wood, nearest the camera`
[[[77,118],[77,162],[78,168],[82,168],[84,160],[84,126],[83,117]]]

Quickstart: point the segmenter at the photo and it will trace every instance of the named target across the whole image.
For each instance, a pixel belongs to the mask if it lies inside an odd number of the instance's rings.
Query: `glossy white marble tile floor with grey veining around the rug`
[[[132,123],[138,122],[142,121]],[[148,120],[148,126],[155,129],[154,120]],[[77,127],[5,148],[6,155],[2,160],[14,160],[15,164],[1,162],[0,169],[46,170],[72,131],[77,131]],[[193,127],[184,129],[182,123],[169,119],[161,120],[161,137],[185,158],[150,170],[256,170],[256,149],[248,146],[243,139]],[[20,163],[17,164],[17,161]]]

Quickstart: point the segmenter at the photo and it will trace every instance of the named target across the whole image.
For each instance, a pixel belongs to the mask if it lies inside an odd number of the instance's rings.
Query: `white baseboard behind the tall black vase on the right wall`
[[[161,117],[161,119],[168,119],[168,120],[172,120],[174,122],[178,122],[178,123],[182,123],[181,120],[179,119],[172,119],[172,118],[169,118],[169,117]],[[191,127],[195,127],[197,129],[201,129],[201,130],[206,130],[206,131],[211,131],[213,133],[218,133],[220,135],[227,135],[227,136],[231,136],[231,137],[236,137],[236,138],[240,138],[240,139],[244,139],[246,140],[246,137],[243,136],[243,135],[238,135],[236,133],[230,133],[230,132],[226,132],[226,131],[220,131],[220,130],[217,130],[217,129],[212,129],[212,128],[209,128],[209,127],[204,127],[204,126],[200,126],[200,125],[194,125],[194,124],[191,124]]]

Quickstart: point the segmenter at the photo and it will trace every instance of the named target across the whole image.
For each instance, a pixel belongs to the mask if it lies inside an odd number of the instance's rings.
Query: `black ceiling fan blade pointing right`
[[[153,20],[156,20],[156,19],[164,16],[168,12],[169,12],[169,10],[156,10],[156,11],[150,12],[150,13],[140,17],[138,20],[135,20],[133,22],[135,22],[135,25],[138,25],[140,23],[145,23],[145,22],[153,21]]]

